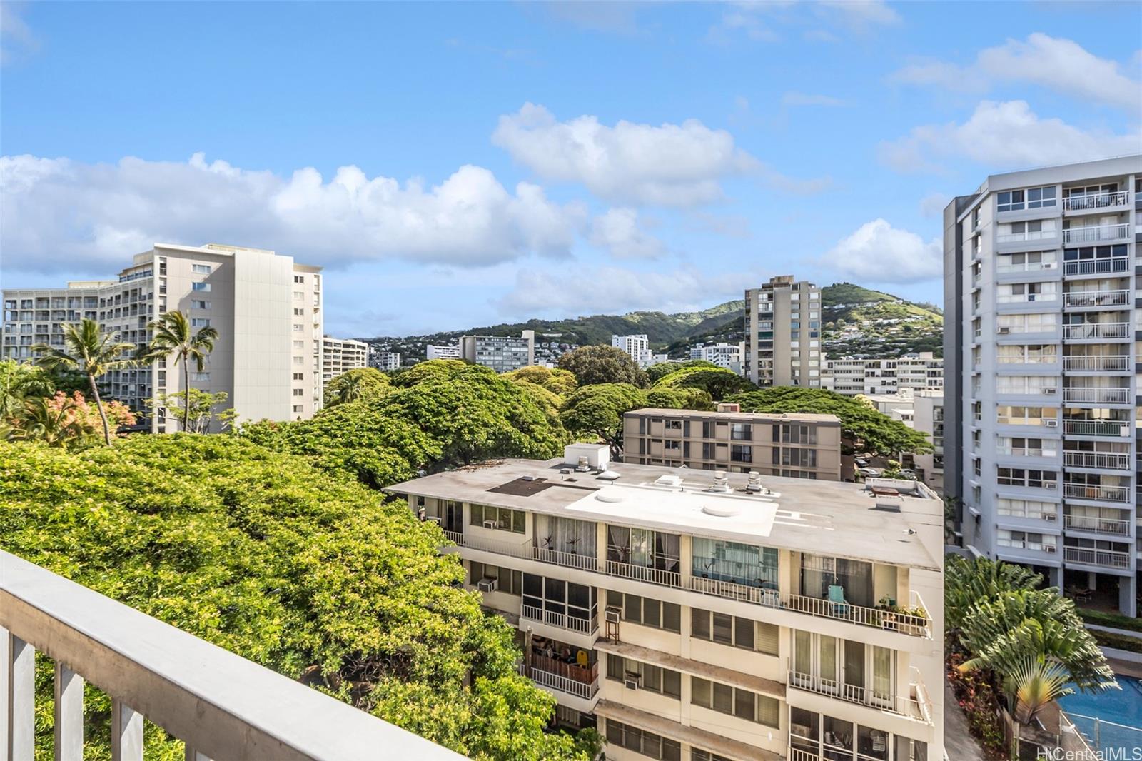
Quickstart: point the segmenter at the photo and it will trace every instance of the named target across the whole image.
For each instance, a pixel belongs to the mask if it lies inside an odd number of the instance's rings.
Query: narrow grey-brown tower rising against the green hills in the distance
[[[746,290],[746,377],[759,386],[821,385],[821,289],[793,275]]]

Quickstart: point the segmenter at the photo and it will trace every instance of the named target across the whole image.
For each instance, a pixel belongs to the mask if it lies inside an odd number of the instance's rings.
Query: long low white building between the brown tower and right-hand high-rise
[[[943,388],[943,359],[932,352],[892,359],[853,359],[823,355],[821,387],[838,394],[894,394],[908,390]]]

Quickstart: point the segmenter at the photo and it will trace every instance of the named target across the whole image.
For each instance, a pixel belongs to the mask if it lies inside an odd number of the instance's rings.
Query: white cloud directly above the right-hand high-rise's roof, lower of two
[[[880,144],[880,159],[900,171],[926,171],[935,159],[967,158],[995,169],[1073,163],[1137,153],[1142,134],[1086,131],[1061,119],[1040,119],[1026,101],[981,102],[962,125],[925,125]]]

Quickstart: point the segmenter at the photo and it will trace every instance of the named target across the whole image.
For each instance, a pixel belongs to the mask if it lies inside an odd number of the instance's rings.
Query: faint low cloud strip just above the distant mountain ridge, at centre
[[[516,273],[515,287],[494,304],[510,317],[682,312],[741,298],[741,283],[761,282],[761,278],[753,273],[710,277],[692,267],[673,272],[616,266],[563,272],[524,269]]]

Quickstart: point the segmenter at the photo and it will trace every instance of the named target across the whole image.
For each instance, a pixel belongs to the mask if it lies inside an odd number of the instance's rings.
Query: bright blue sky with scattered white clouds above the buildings
[[[328,267],[327,330],[939,301],[988,173],[1142,150],[1137,3],[3,3],[0,274]]]

